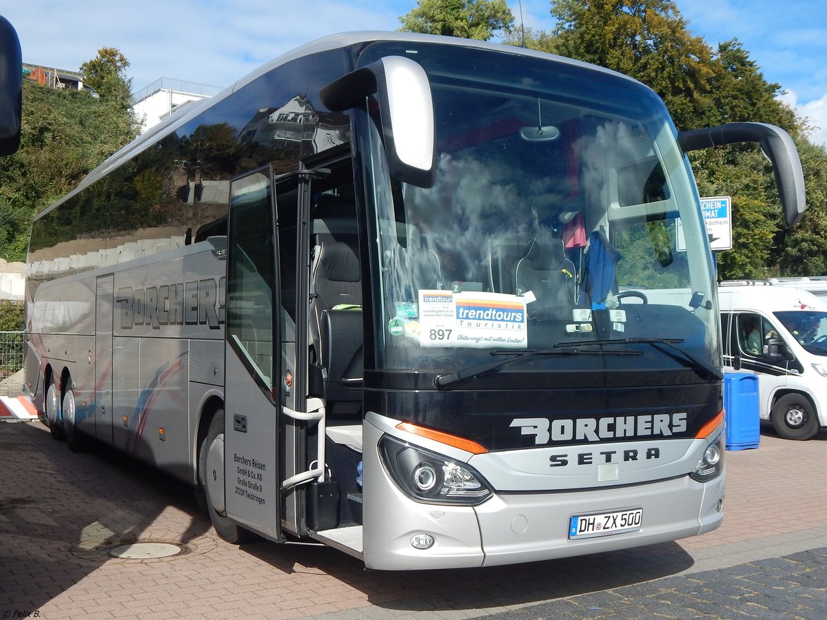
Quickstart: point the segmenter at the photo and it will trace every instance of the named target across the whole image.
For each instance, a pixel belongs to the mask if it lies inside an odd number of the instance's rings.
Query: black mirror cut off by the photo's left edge
[[[0,16],[0,155],[12,155],[20,147],[22,108],[20,39],[14,26]]]

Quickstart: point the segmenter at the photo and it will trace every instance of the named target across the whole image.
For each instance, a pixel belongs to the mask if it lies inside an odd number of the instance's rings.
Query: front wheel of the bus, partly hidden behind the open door
[[[209,423],[207,438],[198,451],[198,479],[207,499],[207,512],[218,536],[233,545],[250,541],[254,535],[227,517],[224,493],[224,412],[219,409]]]

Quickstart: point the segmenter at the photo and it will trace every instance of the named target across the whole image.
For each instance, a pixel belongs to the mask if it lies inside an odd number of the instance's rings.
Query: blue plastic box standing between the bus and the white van
[[[758,377],[747,373],[724,373],[727,450],[758,447],[758,441],[761,439],[758,406]]]

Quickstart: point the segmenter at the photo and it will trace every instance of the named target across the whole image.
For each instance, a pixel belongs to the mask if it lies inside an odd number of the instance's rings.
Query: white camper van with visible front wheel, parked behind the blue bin
[[[758,376],[760,415],[786,439],[827,427],[827,303],[761,281],[718,288],[724,370]]]

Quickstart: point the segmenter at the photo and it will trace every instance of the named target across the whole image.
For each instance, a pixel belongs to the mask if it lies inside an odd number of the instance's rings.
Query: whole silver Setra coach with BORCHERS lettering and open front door
[[[686,151],[739,141],[797,222],[777,127],[678,133],[643,84],[518,47],[316,41],[36,217],[24,390],[71,448],[192,484],[228,541],[399,570],[709,532],[720,327]]]

